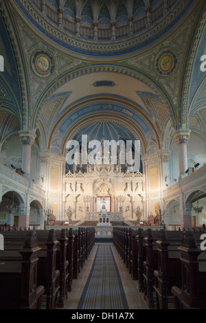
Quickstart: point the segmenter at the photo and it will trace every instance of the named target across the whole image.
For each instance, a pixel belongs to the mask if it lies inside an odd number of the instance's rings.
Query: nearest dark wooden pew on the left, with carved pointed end
[[[36,232],[30,231],[19,249],[19,259],[15,255],[14,260],[8,256],[10,252],[3,251],[7,256],[3,256],[3,261],[0,258],[0,309],[41,309],[45,287],[37,287],[40,250]]]

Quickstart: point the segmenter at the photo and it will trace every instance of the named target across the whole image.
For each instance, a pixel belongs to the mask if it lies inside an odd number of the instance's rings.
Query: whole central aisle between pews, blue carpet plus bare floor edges
[[[147,309],[113,243],[95,243],[64,309]]]

